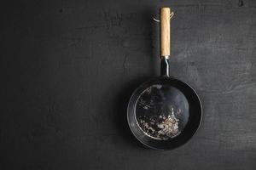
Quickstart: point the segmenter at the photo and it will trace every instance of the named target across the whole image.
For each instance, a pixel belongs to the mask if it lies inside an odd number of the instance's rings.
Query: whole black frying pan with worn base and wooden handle
[[[200,127],[202,118],[201,100],[195,90],[169,77],[170,16],[170,8],[160,8],[160,77],[139,86],[127,108],[131,132],[142,144],[156,150],[185,144]]]

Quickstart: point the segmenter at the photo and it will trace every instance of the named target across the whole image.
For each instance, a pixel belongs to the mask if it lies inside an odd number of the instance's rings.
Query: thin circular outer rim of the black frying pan
[[[192,90],[192,92],[195,94],[196,96],[196,99],[198,99],[198,103],[200,105],[200,121],[198,122],[198,125],[196,126],[196,129],[193,133],[191,133],[191,135],[189,136],[189,139],[185,140],[182,144],[178,144],[176,147],[173,147],[173,148],[157,148],[157,147],[154,147],[150,144],[146,144],[145,142],[142,141],[142,139],[140,139],[138,136],[137,136],[137,133],[135,133],[131,127],[131,123],[130,123],[130,118],[129,118],[129,110],[131,109],[131,100],[134,98],[135,94],[137,94],[137,91],[139,88],[143,88],[143,86],[145,84],[147,84],[148,82],[156,82],[158,80],[162,80],[162,79],[166,79],[166,80],[173,80],[173,81],[177,81],[177,82],[181,82],[183,83],[185,86],[187,86],[188,88],[190,88]],[[192,88],[187,82],[183,82],[179,79],[177,79],[176,77],[154,77],[154,78],[151,78],[149,79],[148,81],[146,82],[143,82],[142,84],[140,84],[134,91],[133,93],[131,94],[131,97],[129,99],[129,103],[128,103],[128,106],[127,106],[127,110],[126,110],[126,118],[127,118],[127,122],[128,122],[128,125],[129,125],[129,128],[131,130],[131,133],[133,134],[133,136],[136,137],[136,139],[141,143],[143,144],[144,146],[147,146],[148,148],[150,149],[154,149],[154,150],[175,150],[179,147],[181,147],[182,145],[184,144],[187,144],[189,142],[190,139],[192,139],[196,133],[198,133],[198,130],[200,129],[201,127],[201,123],[202,123],[202,119],[203,119],[203,107],[202,107],[202,101],[201,101],[201,98],[199,97],[199,95],[195,92],[195,89]]]

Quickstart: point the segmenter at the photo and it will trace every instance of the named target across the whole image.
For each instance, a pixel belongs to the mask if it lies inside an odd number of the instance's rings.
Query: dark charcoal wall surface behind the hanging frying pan
[[[171,75],[201,97],[189,143],[145,148],[132,91],[160,74],[158,17],[172,20]],[[1,3],[1,169],[256,168],[256,1]]]

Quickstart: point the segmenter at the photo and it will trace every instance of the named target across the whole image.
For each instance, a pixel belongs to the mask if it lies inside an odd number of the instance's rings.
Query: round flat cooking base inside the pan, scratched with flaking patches
[[[177,137],[189,121],[189,102],[168,84],[151,84],[139,94],[135,118],[138,127],[152,139]]]

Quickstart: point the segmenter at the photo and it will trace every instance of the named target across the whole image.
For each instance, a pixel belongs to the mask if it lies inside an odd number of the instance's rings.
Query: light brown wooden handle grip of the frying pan
[[[170,55],[171,45],[171,22],[170,22],[170,8],[160,8],[160,56]]]

